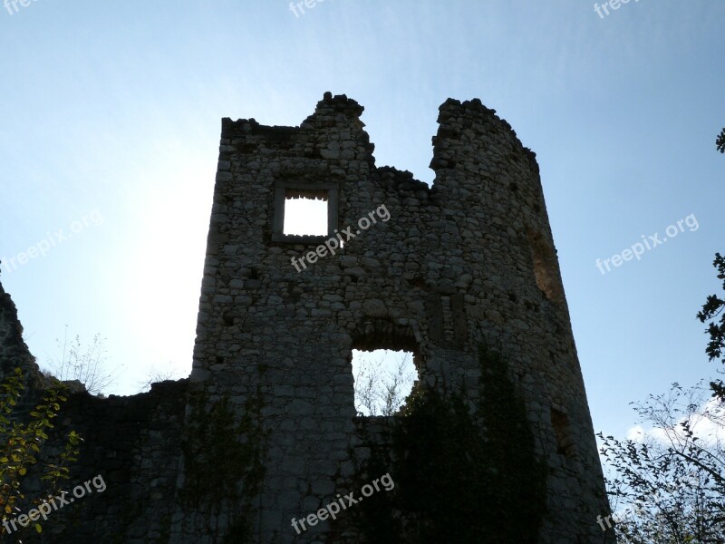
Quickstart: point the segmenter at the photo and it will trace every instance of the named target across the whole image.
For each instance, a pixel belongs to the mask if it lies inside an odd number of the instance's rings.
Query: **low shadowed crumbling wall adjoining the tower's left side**
[[[24,370],[30,387],[21,404],[30,410],[43,395],[46,380],[22,332],[14,303],[0,285],[0,377],[18,366]],[[53,511],[41,534],[29,529],[5,536],[4,541],[168,543],[188,382],[153,384],[150,393],[129,397],[68,394],[40,459],[57,455],[68,432],[79,432],[83,439],[79,460],[71,465],[70,478],[62,481],[61,488],[70,492],[101,475],[106,489],[98,492],[92,486],[92,493]],[[37,470],[31,470],[24,481],[28,500],[42,497],[46,489],[37,476]],[[24,505],[24,513],[29,506]]]

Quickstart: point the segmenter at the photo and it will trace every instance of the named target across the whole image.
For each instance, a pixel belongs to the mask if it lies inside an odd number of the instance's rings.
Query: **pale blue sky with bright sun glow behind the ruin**
[[[694,316],[725,250],[724,3],[17,7],[0,9],[0,280],[41,363],[68,325],[107,338],[111,393],[169,361],[188,374],[220,118],[296,125],[331,91],[365,106],[379,166],[429,183],[448,97],[536,151],[596,430],[623,435],[630,401],[714,373]],[[641,260],[595,266],[691,215]]]

